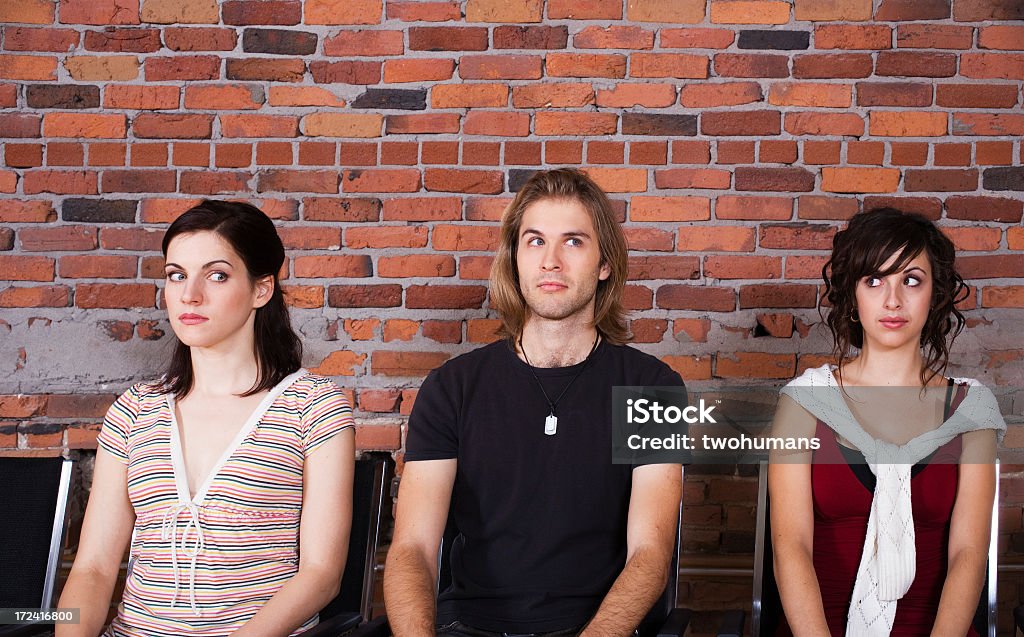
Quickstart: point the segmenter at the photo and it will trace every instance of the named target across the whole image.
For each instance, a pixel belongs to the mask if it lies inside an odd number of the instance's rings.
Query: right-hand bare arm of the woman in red
[[[995,432],[964,434],[956,502],[949,523],[949,564],[942,585],[933,637],[963,637],[971,627],[985,581],[995,498]]]

